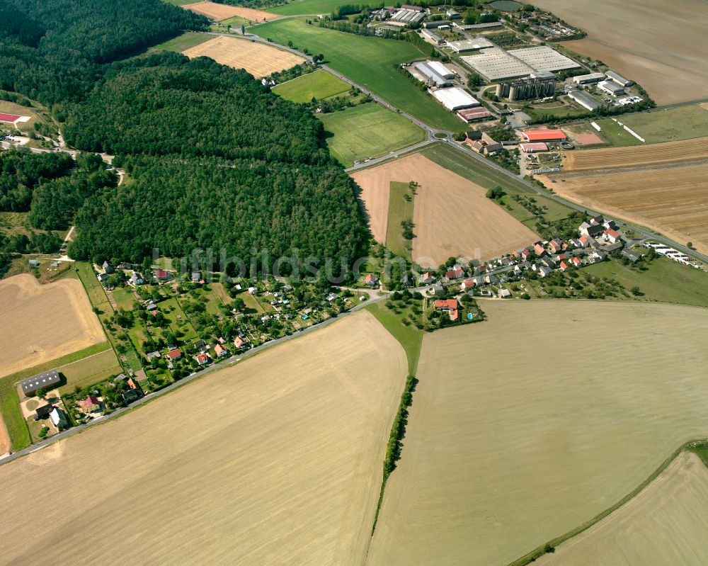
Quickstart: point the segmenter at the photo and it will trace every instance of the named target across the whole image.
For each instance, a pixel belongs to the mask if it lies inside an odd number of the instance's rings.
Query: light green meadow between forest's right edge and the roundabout
[[[342,164],[379,157],[425,139],[425,132],[405,118],[375,103],[321,114],[324,129],[333,134],[329,149]]]

